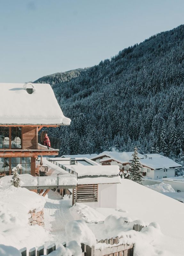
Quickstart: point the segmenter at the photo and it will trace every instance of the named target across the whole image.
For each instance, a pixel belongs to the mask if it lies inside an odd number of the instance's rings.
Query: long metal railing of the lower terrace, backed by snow
[[[12,175],[0,178],[0,186],[10,186]],[[32,176],[30,174],[20,174],[20,187],[22,188],[49,188],[58,186],[74,186],[77,183],[76,174],[57,173],[43,176]]]

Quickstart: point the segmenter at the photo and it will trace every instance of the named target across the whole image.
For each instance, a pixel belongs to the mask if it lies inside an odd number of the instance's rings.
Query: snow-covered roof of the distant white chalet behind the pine
[[[92,157],[92,160],[98,159],[100,157],[104,157],[100,159],[100,163],[109,160],[114,160],[116,162],[125,164],[129,163],[132,159],[133,152],[111,152],[111,151],[104,151],[98,156]],[[138,154],[140,157],[140,162],[143,166],[147,166],[151,169],[169,169],[169,168],[180,168],[181,165],[174,162],[172,159],[159,155],[159,154]]]

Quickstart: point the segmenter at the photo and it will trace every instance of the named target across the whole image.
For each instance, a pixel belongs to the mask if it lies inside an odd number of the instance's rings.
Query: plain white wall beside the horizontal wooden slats
[[[89,202],[84,204],[93,208],[117,208],[117,184],[99,184],[98,202]]]

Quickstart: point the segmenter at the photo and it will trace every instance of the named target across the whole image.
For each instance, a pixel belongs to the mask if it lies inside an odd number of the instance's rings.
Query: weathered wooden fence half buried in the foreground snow
[[[127,222],[127,221],[125,221]],[[133,230],[141,231],[144,226],[139,224],[134,224]],[[111,246],[104,248],[103,250],[95,249],[95,246],[89,246],[81,244],[82,256],[133,256],[134,244],[120,244],[120,239],[124,236],[116,236],[110,239],[96,240],[98,243],[109,244]],[[128,238],[128,236],[127,236]],[[66,247],[66,242],[62,243]],[[56,250],[56,245],[51,244],[45,248],[46,255]],[[23,248],[20,250],[22,256],[27,256],[27,249]],[[41,256],[44,255],[44,246],[40,246],[37,249],[34,247],[28,251],[28,256]],[[61,255],[62,256],[62,255]]]

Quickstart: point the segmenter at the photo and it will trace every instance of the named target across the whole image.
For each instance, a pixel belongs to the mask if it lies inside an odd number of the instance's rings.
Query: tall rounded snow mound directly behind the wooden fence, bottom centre
[[[96,238],[84,220],[68,222],[65,226],[65,232],[69,242],[75,240],[78,244],[84,243],[90,246],[96,244]]]

